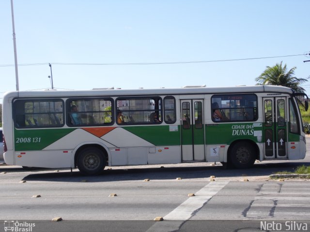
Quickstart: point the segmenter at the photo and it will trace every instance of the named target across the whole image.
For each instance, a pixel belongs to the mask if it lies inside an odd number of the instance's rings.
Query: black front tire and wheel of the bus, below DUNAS
[[[239,142],[233,145],[230,152],[230,161],[235,168],[250,168],[256,160],[253,145],[248,142]]]

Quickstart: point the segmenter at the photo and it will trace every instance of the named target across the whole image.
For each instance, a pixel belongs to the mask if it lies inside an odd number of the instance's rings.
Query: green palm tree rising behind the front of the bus
[[[296,67],[293,67],[287,72],[286,64],[282,67],[281,63],[277,63],[273,67],[267,66],[265,71],[255,78],[257,85],[274,85],[274,86],[285,86],[294,89],[295,92],[304,93],[306,90],[300,85],[306,81],[304,78],[294,77],[294,71]]]

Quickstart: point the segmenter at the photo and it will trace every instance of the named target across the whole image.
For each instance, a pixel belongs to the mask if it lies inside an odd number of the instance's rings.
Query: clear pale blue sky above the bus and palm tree
[[[48,63],[54,88],[78,90],[251,86],[281,61],[310,76],[310,0],[13,4],[19,90],[50,88]],[[0,35],[2,98],[16,90],[10,0],[0,1]],[[309,94],[310,81],[304,88]]]

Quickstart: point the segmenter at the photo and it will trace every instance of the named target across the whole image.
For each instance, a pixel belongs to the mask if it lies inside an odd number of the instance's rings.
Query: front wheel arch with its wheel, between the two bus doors
[[[234,141],[227,151],[227,161],[235,168],[250,168],[259,159],[259,147],[251,140]]]

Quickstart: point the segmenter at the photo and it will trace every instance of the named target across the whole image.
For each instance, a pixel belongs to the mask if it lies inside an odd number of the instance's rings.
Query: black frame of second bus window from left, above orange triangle
[[[72,123],[72,118],[70,116],[71,114],[71,102],[75,102],[75,101],[82,101],[82,100],[102,100],[102,101],[109,101],[111,102],[111,122],[109,123],[81,123],[81,124],[77,124],[74,125]],[[109,98],[109,97],[74,97],[74,98],[68,98],[65,102],[66,104],[66,125],[68,127],[106,127],[106,126],[111,126],[114,124],[114,100],[113,98]],[[92,112],[96,112],[96,113],[100,113],[100,112],[105,112],[105,111],[80,111],[80,113],[92,113]]]

